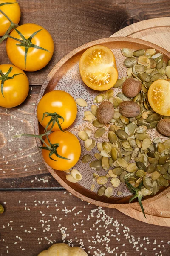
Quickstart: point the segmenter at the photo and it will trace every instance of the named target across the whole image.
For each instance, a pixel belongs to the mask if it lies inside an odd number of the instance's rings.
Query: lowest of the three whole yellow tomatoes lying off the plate
[[[0,65],[0,106],[13,108],[27,97],[29,81],[23,70],[10,64]]]

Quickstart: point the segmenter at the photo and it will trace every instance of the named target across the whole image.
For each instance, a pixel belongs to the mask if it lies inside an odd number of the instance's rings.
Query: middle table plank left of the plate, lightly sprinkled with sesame
[[[31,90],[32,89],[32,90]],[[34,109],[40,86],[30,87],[28,97],[16,108],[0,107],[0,188],[61,187],[49,174],[34,138]]]

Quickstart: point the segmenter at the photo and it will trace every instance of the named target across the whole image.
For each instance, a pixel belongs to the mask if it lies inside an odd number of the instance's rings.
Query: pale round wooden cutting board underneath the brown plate
[[[144,20],[119,30],[114,36],[139,38],[157,44],[170,52],[170,17]],[[144,204],[147,219],[140,207],[120,208],[120,212],[145,223],[170,227],[170,193]]]

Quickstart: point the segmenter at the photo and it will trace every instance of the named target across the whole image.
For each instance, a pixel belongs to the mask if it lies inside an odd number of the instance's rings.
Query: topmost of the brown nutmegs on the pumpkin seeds
[[[128,78],[123,84],[122,91],[125,96],[133,98],[140,92],[142,83],[136,78]]]

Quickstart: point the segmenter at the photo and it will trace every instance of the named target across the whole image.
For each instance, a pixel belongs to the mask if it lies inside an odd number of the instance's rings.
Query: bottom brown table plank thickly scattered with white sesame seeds
[[[0,215],[1,256],[35,256],[62,239],[81,245],[89,256],[170,253],[168,227],[136,221],[68,192],[1,192],[0,203],[5,207]],[[114,252],[110,254],[107,248]]]

